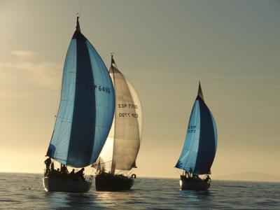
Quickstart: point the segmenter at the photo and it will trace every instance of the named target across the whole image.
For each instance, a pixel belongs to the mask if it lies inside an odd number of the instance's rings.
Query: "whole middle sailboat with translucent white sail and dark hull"
[[[95,187],[106,191],[129,190],[136,178],[131,170],[136,167],[142,137],[141,102],[132,84],[118,70],[113,55],[109,73],[115,88],[116,111],[109,137],[93,165],[97,168]]]

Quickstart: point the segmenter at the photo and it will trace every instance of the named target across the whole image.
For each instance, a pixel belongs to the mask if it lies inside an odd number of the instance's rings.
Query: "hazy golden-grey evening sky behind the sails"
[[[0,172],[43,173],[66,50],[80,28],[143,106],[138,176],[174,168],[201,81],[218,127],[212,177],[280,174],[279,1],[0,0]]]

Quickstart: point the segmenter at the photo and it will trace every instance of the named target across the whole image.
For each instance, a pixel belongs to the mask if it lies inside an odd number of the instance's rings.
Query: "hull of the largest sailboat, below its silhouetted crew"
[[[47,192],[87,193],[92,183],[59,178],[43,178],[43,186]]]

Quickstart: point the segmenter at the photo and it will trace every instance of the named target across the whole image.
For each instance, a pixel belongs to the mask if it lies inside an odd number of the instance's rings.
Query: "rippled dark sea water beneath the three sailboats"
[[[132,190],[48,193],[41,174],[0,173],[0,209],[280,209],[280,183],[212,181],[205,192],[179,179],[137,178]]]

